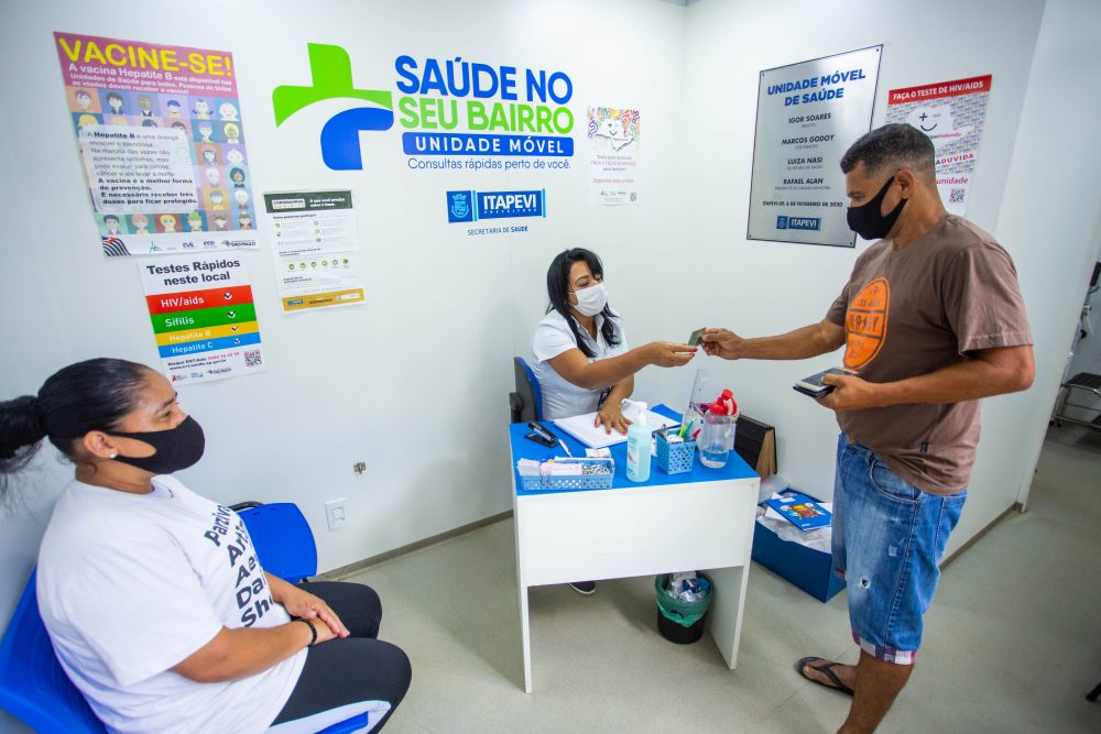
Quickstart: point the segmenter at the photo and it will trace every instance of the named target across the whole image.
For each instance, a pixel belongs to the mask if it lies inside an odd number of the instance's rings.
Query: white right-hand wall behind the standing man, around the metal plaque
[[[1097,102],[1087,91],[1098,69],[1095,43],[1093,52],[1087,45],[1091,33],[1095,42],[1095,25],[1078,14],[1089,3],[1049,4],[1040,36],[1046,51],[1036,67],[1031,65],[1044,12],[1039,0],[934,0],[919,7],[702,0],[688,7],[683,177],[691,185],[684,220],[691,222],[691,267],[712,283],[720,277],[731,283],[700,288],[698,308],[709,325],[743,336],[819,320],[866,247],[862,240],[854,250],[746,241],[757,73],[882,43],[873,127],[883,122],[892,88],[993,74],[968,217],[993,232],[1017,262],[1040,369],[1029,393],[985,403],[971,499],[950,550],[1012,506],[1027,484],[1032,468],[1023,464],[1038,454],[1051,381],[1058,382],[1049,364],[1058,354],[1065,359],[1066,311],[1081,304],[1070,271],[1082,272],[1086,240],[1097,221],[1095,186],[1087,178],[1097,152],[1087,133],[1097,119],[1089,113]],[[707,134],[690,134],[688,128]],[[1058,141],[1075,142],[1062,149]],[[1051,208],[1036,207],[1037,198]],[[778,427],[781,471],[825,496],[832,492],[837,427],[832,414],[789,385],[837,361],[826,355],[716,368],[750,415]]]

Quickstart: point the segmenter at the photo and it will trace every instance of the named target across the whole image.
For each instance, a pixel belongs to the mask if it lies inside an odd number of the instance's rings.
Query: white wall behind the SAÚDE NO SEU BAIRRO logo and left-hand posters
[[[296,502],[323,570],[511,508],[511,362],[526,353],[543,316],[552,256],[570,245],[597,250],[632,341],[665,337],[662,305],[626,285],[656,277],[653,263],[672,230],[684,12],[656,0],[129,1],[110,12],[78,2],[4,3],[0,64],[19,72],[0,78],[0,98],[18,100],[0,109],[6,252],[14,258],[0,289],[0,396],[33,392],[78,359],[157,364],[137,265],[105,260],[97,245],[52,32],[227,50],[239,75],[255,195],[351,188],[368,304],[284,316],[266,243],[244,253],[268,372],[182,387],[184,408],[208,436],[206,457],[183,479],[226,503]],[[542,176],[411,172],[395,127],[367,138],[367,171],[329,171],[317,135],[331,105],[274,128],[271,91],[308,83],[307,42],[344,46],[357,83],[369,88],[394,88],[401,54],[564,70],[574,81],[574,168]],[[644,206],[587,204],[587,105],[643,111]],[[547,189],[549,213],[527,235],[473,238],[446,224],[447,189],[533,187]],[[644,374],[640,393],[664,398],[666,381]],[[48,467],[56,465],[52,454],[43,452]],[[352,472],[360,460],[363,476]],[[55,469],[44,481],[47,499],[32,521],[15,508],[0,518],[0,558],[13,571],[0,581],[0,620],[33,563],[48,497],[64,474]],[[13,494],[37,492],[31,484],[31,475],[21,478]],[[347,497],[350,518],[335,533],[324,516],[334,497]]]

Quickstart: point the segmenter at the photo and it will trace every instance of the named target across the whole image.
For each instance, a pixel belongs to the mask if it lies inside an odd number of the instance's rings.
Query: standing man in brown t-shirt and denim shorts
[[[937,193],[931,141],[889,124],[841,158],[849,227],[879,240],[820,322],[743,339],[708,329],[726,359],[806,359],[844,346],[828,375],[836,412],[833,567],[847,578],[855,666],[803,658],[799,673],[853,694],[842,732],[873,731],[913,669],[938,563],[979,442],[979,399],[1026,390],[1032,333],[1009,254]],[[882,239],[881,239],[882,238]]]

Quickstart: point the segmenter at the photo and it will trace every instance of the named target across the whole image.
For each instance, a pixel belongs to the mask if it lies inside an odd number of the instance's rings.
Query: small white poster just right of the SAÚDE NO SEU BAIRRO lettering
[[[639,143],[642,116],[639,110],[590,107],[589,204],[637,204]]]

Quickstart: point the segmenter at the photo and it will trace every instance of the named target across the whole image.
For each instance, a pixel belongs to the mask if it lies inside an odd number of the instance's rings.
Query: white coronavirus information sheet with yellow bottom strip
[[[264,194],[283,311],[363,303],[351,191]]]

